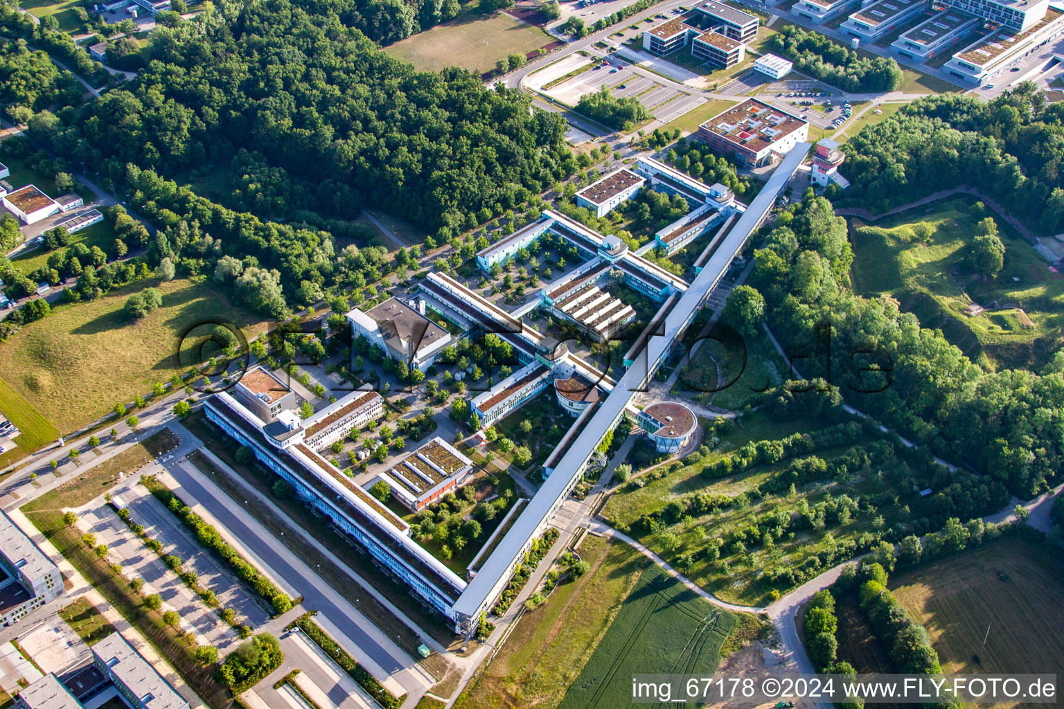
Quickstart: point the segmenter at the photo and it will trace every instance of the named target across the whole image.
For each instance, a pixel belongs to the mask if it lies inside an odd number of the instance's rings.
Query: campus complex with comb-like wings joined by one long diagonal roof
[[[717,230],[693,283],[642,258],[616,237],[603,237],[552,210],[477,254],[478,265],[486,271],[545,234],[561,239],[582,263],[559,281],[545,284],[539,301],[532,304],[595,338],[608,339],[634,315],[631,306],[603,290],[610,280],[619,278],[662,304],[654,324],[663,324],[665,336],[641,338],[633,347],[638,351],[626,353],[627,369],[619,381],[444,273],[429,273],[412,303],[392,299],[368,311],[355,308],[348,314],[355,335],[366,337],[389,357],[406,356],[418,366],[431,364],[438,350],[451,341],[447,331],[426,317],[427,313],[446,318],[463,332],[462,337],[492,333],[512,345],[518,369],[471,402],[484,425],[492,425],[547,388],[553,388],[560,406],[576,417],[575,431],[547,466],[544,486],[470,578],[461,578],[420,546],[411,538],[408,523],[346,477],[321,452],[333,440],[379,417],[380,394],[354,391],[301,420],[294,411],[293,391],[255,368],[239,379],[235,393],[209,398],[207,418],[253,450],[264,466],[292,484],[333,526],[356,540],[382,569],[447,617],[455,632],[469,635],[495,604],[529,545],[580,480],[598,441],[622,417],[633,421],[660,452],[675,453],[687,443],[697,423],[687,407],[661,402],[637,409],[631,399],[653,375],[746,239],[767,216],[804,151],[804,144],[792,145],[769,185],[750,205],[735,202],[720,185],[708,186],[679,175],[650,158],[639,162],[637,173],[622,169],[592,185],[592,192],[585,190],[598,201],[609,202],[611,191],[624,192],[649,183],[654,189],[689,197],[694,209],[659,232],[655,239],[664,244],[674,238],[686,242]],[[435,438],[368,480],[366,488],[384,480],[404,506],[419,510],[460,486],[470,470],[466,456]]]

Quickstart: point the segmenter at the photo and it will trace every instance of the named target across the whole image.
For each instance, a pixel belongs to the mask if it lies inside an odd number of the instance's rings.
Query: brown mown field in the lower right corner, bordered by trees
[[[947,674],[1064,668],[1055,546],[1007,537],[899,575],[890,587],[927,628]]]

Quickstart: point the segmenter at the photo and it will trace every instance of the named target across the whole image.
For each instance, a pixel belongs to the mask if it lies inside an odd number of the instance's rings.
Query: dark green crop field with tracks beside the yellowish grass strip
[[[712,674],[735,615],[651,567],[639,576],[559,709],[620,707],[636,673]]]

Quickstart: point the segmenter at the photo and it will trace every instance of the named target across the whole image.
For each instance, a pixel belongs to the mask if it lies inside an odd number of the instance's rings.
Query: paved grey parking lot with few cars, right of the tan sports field
[[[613,64],[618,62],[613,60]],[[705,99],[686,91],[666,86],[661,82],[636,73],[630,65],[614,71],[616,67],[603,65],[601,69],[585,71],[567,82],[559,84],[545,94],[553,96],[569,105],[576,105],[580,97],[601,89],[603,85],[617,98],[634,98],[647,107],[658,120],[668,122],[679,118],[692,108],[705,103]]]

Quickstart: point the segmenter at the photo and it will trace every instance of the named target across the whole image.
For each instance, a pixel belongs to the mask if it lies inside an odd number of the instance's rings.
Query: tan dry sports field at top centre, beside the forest
[[[494,69],[510,54],[526,54],[553,41],[537,27],[509,15],[466,13],[450,22],[385,47],[392,56],[421,71],[461,67],[475,72]]]

